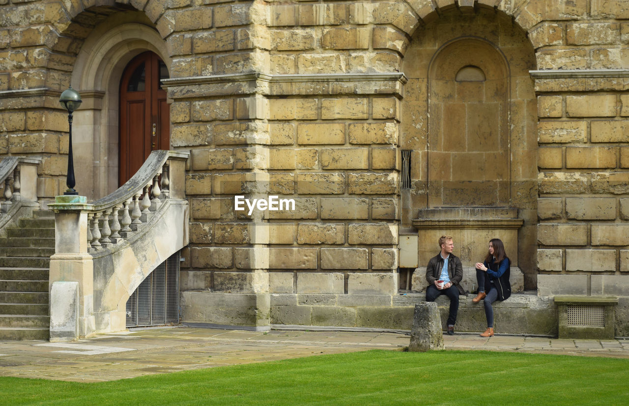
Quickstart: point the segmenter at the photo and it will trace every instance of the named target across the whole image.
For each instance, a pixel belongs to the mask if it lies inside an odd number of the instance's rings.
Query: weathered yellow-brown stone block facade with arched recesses
[[[449,233],[466,267],[503,238],[538,297],[621,297],[629,335],[629,1],[0,3],[0,153],[42,157],[42,202],[65,189],[60,92],[83,99],[77,190],[101,198],[126,68],[163,61],[158,125],[191,154],[182,321],[399,328],[400,285],[423,287],[399,269]]]

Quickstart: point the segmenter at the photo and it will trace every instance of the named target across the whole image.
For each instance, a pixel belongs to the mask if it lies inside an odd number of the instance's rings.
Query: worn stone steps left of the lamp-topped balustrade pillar
[[[48,270],[55,253],[52,211],[34,211],[0,238],[0,339],[48,339]]]

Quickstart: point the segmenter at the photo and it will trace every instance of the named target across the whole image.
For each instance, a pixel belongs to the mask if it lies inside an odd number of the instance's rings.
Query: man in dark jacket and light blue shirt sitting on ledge
[[[454,242],[450,235],[439,238],[441,252],[428,261],[426,267],[426,302],[434,302],[442,294],[450,298],[450,314],[448,314],[448,335],[454,335],[454,324],[457,322],[459,311],[459,293],[465,294],[460,287],[463,279],[463,264],[459,257],[452,254]]]

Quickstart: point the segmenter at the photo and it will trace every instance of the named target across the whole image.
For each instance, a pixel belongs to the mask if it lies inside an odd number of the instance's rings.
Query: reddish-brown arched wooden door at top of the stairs
[[[120,81],[120,151],[122,185],[140,169],[151,151],[170,149],[170,108],[160,80],[169,77],[164,61],[151,51],[125,68]]]

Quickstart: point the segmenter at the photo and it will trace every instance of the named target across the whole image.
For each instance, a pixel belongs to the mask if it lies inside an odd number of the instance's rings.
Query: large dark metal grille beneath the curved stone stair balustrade
[[[179,252],[148,274],[126,302],[126,326],[179,323]]]

